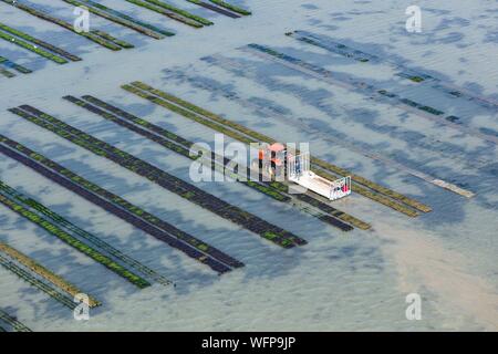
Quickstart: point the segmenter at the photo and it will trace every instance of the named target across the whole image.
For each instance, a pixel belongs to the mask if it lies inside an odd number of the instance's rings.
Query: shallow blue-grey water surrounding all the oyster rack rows
[[[176,288],[155,284],[138,291],[1,207],[0,241],[77,284],[104,305],[91,312],[90,321],[76,322],[71,311],[0,269],[0,308],[34,331],[497,330],[496,145],[240,50],[248,43],[264,44],[445,112],[459,112],[465,125],[496,131],[496,111],[409,84],[393,76],[386,65],[349,61],[283,35],[292,30],[326,35],[498,100],[496,6],[484,0],[422,1],[423,32],[409,34],[404,25],[405,9],[398,1],[335,1],[332,6],[325,0],[234,0],[253,12],[238,20],[186,1],[170,2],[193,9],[216,24],[194,30],[129,3],[106,0],[103,3],[177,32],[155,41],[95,19],[93,23],[100,29],[136,45],[111,52],[0,3],[2,22],[83,58],[79,63],[56,65],[0,43],[1,55],[34,70],[11,80],[0,77],[0,132],[221,249],[246,267],[217,277],[207,267],[2,155],[2,180],[157,270]],[[71,19],[72,7],[62,1],[30,3],[56,9],[54,14]],[[206,60],[212,55],[231,59],[246,71],[225,70]],[[189,181],[190,160],[61,98],[92,94],[189,140],[212,144],[212,131],[120,88],[136,80],[280,140],[309,142],[313,155],[416,198],[434,210],[412,219],[353,195],[334,206],[371,222],[373,230],[355,229],[345,235],[238,184],[199,184],[199,188],[309,241],[305,247],[283,250],[4,111],[33,105]],[[239,98],[227,98],[230,93]],[[258,106],[279,114],[260,112]],[[393,164],[334,143],[332,138],[338,137],[477,196],[466,199],[427,184]],[[423,299],[422,321],[405,317],[405,296],[413,292]]]

